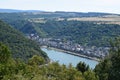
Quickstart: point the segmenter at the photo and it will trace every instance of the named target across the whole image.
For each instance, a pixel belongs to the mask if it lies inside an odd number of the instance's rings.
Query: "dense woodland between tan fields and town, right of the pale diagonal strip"
[[[47,37],[65,38],[88,46],[109,46],[110,38],[120,35],[120,25],[80,21],[47,21],[39,24]]]

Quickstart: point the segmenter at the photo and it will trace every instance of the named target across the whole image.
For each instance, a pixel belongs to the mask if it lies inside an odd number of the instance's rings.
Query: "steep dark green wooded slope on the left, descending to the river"
[[[27,60],[33,55],[40,55],[44,58],[48,58],[46,53],[41,51],[38,44],[28,40],[22,33],[15,30],[8,24],[0,20],[0,42],[5,43],[10,47],[14,58],[21,58]]]

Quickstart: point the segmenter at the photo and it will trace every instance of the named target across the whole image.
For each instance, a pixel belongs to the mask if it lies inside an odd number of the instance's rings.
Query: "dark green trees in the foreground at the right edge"
[[[110,55],[102,60],[96,67],[95,72],[100,80],[120,79],[120,38],[115,38],[111,44]]]

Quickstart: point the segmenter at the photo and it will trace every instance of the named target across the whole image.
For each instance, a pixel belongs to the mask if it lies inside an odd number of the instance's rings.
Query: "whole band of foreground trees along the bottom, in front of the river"
[[[45,59],[33,55],[24,63],[13,59],[10,49],[0,43],[1,80],[119,80],[120,38],[111,43],[110,55],[101,60],[94,70],[84,62],[68,67],[57,62],[45,63]]]

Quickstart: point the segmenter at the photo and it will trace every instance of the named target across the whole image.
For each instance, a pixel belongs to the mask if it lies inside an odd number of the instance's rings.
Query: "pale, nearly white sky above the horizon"
[[[0,0],[0,8],[120,14],[120,0]]]

